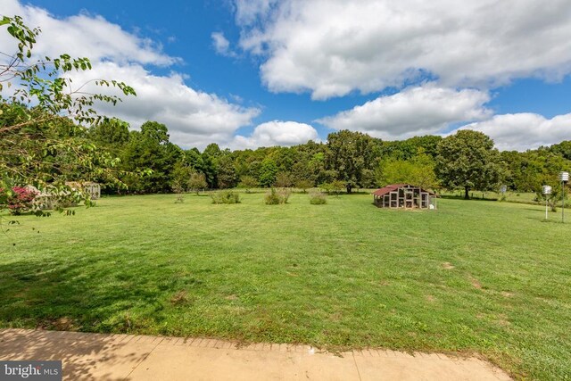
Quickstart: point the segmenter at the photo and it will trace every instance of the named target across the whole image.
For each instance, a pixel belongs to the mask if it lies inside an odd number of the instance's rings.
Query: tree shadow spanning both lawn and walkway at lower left
[[[0,265],[0,330],[2,360],[62,360],[67,379],[123,379],[110,369],[130,369],[147,353],[121,351],[116,337],[51,330],[126,331],[103,322],[120,315],[128,304],[156,302],[141,287],[116,287],[104,282],[105,271],[86,270],[82,261],[26,259]],[[94,338],[96,338],[94,340]],[[120,353],[120,355],[118,355]]]

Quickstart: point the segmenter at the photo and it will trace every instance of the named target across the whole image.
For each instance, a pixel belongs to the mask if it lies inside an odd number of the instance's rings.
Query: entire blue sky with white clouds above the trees
[[[35,53],[86,56],[73,83],[137,97],[98,112],[164,123],[182,148],[385,140],[470,128],[501,150],[571,139],[568,0],[0,0]],[[0,52],[13,50],[6,33]]]

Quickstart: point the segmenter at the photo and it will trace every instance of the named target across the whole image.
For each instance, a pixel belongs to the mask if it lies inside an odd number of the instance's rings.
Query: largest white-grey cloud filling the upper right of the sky
[[[240,45],[263,54],[271,91],[314,99],[401,87],[487,88],[571,73],[568,0],[236,1]]]

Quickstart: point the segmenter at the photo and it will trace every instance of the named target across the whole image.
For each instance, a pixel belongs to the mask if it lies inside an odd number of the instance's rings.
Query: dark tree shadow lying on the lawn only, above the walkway
[[[153,287],[157,279],[149,273],[95,258],[2,264],[0,327],[128,333],[137,330],[132,311],[144,315],[145,326],[154,325],[163,319],[161,291],[178,285]]]

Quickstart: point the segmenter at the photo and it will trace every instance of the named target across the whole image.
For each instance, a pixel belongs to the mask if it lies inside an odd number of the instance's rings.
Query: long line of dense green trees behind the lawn
[[[498,191],[502,184],[519,192],[537,192],[545,184],[557,188],[559,171],[571,168],[571,141],[523,153],[499,152],[490,137],[472,130],[401,141],[342,130],[329,134],[325,143],[235,151],[212,143],[201,152],[171,143],[168,128],[159,122],[147,121],[139,130],[130,130],[128,123],[112,119],[87,130],[85,138],[119,158],[117,169],[126,173],[120,179],[127,187],[110,186],[108,193],[236,186],[320,186],[352,193],[355,188],[411,183],[429,189],[460,188],[468,197],[471,190]],[[142,176],[133,175],[145,170]]]

